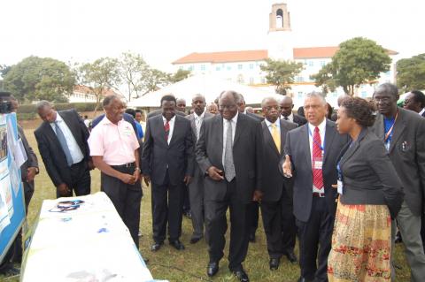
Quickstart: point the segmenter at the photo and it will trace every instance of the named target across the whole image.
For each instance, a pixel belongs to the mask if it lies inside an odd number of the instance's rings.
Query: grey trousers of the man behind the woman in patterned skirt
[[[405,244],[406,258],[411,270],[411,281],[424,281],[425,255],[423,253],[421,239],[421,217],[414,216],[412,211],[407,207],[406,202],[403,202],[401,210],[398,213],[397,225],[395,222],[391,225],[392,252],[395,250],[394,240],[397,226],[401,233],[401,238],[403,238],[403,244]]]

